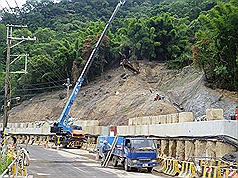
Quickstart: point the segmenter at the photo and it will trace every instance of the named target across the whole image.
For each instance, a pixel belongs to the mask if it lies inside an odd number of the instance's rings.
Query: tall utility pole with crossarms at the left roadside
[[[26,28],[27,26],[23,25],[6,25],[7,27],[7,59],[6,59],[6,78],[5,78],[5,95],[4,95],[4,118],[3,118],[3,132],[7,127],[7,122],[8,122],[8,106],[10,106],[10,98],[9,98],[9,93],[10,93],[10,80],[9,80],[9,74],[10,74],[10,53],[11,53],[11,48],[17,46],[18,44],[21,44],[24,41],[34,41],[36,40],[36,37],[30,38],[29,36],[27,38],[21,37],[21,38],[15,38],[12,37],[12,30],[13,27],[15,28]],[[15,43],[12,45],[12,40],[17,40],[19,42]]]

